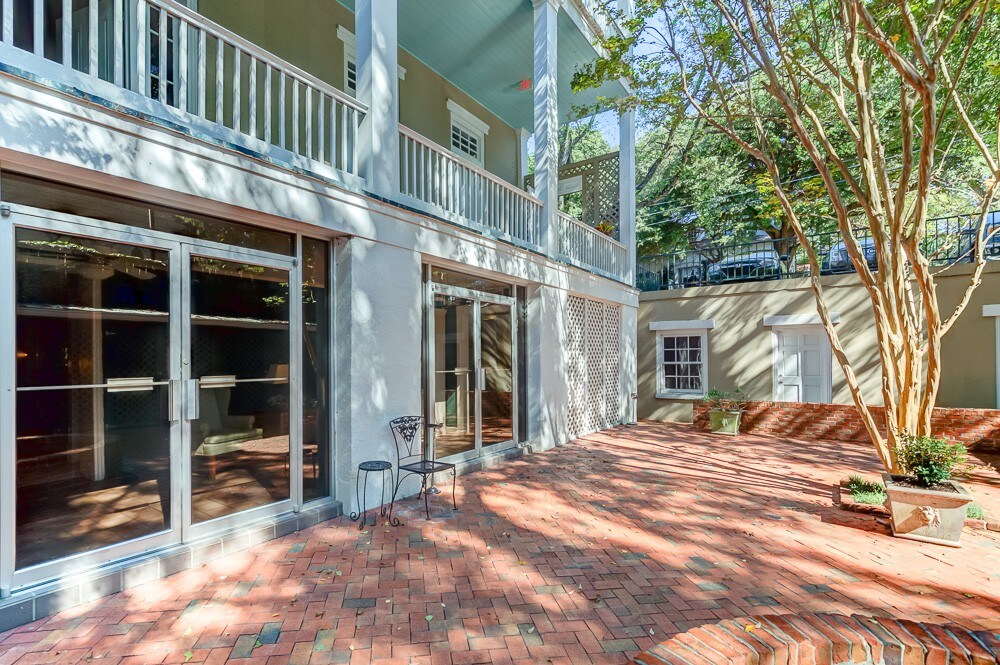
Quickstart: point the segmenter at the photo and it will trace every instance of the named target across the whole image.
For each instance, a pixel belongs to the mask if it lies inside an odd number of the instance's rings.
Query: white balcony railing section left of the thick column
[[[45,4],[34,0],[33,39],[24,44],[10,20],[13,6],[4,2],[4,60],[16,62],[27,49],[48,57],[39,73],[62,66],[47,78],[75,85],[82,75],[84,83],[114,84],[159,102],[145,105],[154,114],[205,128],[212,138],[296,166],[357,174],[365,108],[311,74],[173,0],[89,0],[76,12],[64,10],[61,28],[46,23]]]

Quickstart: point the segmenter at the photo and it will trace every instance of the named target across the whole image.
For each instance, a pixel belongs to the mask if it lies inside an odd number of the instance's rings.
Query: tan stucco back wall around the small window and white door
[[[950,312],[969,283],[969,266],[952,266],[938,279],[942,312]],[[824,278],[830,310],[841,315],[838,331],[865,394],[881,404],[879,364],[871,306],[855,275]],[[983,284],[942,347],[938,406],[994,408],[996,396],[995,321],[983,317],[983,305],[1000,304],[1000,265],[989,265]],[[708,386],[741,386],[754,400],[772,394],[771,330],[763,318],[815,314],[807,280],[757,282],[643,293],[639,299],[639,417],[691,420],[691,400],[656,397],[656,333],[654,321],[713,319],[708,333]],[[834,363],[833,402],[848,404],[843,373]]]

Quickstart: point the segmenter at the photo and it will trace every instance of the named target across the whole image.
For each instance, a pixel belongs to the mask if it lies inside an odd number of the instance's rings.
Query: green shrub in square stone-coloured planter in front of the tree
[[[972,494],[951,475],[965,462],[965,446],[930,436],[904,435],[896,456],[904,473],[882,474],[892,534],[961,547]]]

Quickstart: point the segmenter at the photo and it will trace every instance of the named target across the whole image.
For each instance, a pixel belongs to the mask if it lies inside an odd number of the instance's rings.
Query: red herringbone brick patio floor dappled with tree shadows
[[[892,539],[833,507],[859,469],[859,445],[618,429],[460,478],[457,514],[337,519],[0,633],[0,665],[624,663],[764,613],[1000,630],[1000,534]],[[1000,514],[995,472],[970,485]]]

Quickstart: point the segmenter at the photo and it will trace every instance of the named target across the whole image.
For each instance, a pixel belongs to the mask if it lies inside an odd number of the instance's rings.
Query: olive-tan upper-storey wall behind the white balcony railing
[[[344,89],[344,43],[337,37],[337,26],[354,32],[354,14],[340,3],[199,0],[198,13]],[[399,64],[406,70],[405,80],[399,82],[399,121],[447,147],[451,144],[447,102],[454,100],[490,127],[484,153],[486,170],[516,183],[520,150],[517,131],[410,53],[401,50]],[[209,106],[213,103],[210,100]]]

